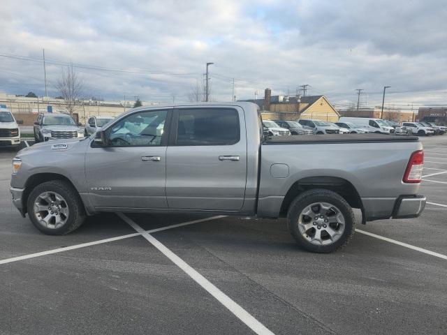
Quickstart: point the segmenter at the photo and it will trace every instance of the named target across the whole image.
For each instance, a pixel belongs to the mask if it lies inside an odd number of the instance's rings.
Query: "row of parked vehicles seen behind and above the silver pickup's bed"
[[[403,122],[373,119],[365,117],[340,117],[338,122],[316,119],[299,119],[298,121],[265,120],[265,132],[268,135],[322,135],[322,134],[365,134],[381,133],[396,135],[443,135],[446,126],[432,122]]]

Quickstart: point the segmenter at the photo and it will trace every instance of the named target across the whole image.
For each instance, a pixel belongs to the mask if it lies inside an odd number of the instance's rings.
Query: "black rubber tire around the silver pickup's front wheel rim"
[[[66,223],[58,228],[44,227],[34,215],[34,202],[39,195],[48,191],[59,193],[59,195],[61,195],[66,201],[66,205],[68,207],[69,214]],[[71,184],[63,180],[45,181],[44,183],[36,186],[29,194],[27,209],[31,223],[33,223],[38,230],[47,235],[68,234],[69,232],[73,232],[73,230],[78,229],[85,220],[85,209],[78,192],[73,188],[73,186],[71,186]]]

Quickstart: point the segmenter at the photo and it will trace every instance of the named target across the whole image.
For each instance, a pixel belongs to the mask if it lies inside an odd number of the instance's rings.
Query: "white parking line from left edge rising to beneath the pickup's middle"
[[[188,221],[188,222],[184,222],[184,223],[177,223],[176,225],[168,225],[166,227],[147,230],[147,232],[161,232],[162,230],[178,228],[178,227],[182,227],[183,225],[192,225],[193,223],[211,221],[211,220],[216,220],[217,218],[224,218],[224,217],[225,216],[212,216],[211,218],[201,218],[200,220]],[[133,234],[126,234],[126,235],[121,235],[121,236],[117,236],[117,237],[111,237],[110,239],[99,239],[98,241],[91,241],[91,242],[82,243],[82,244],[75,244],[74,246],[64,246],[63,248],[41,251],[40,253],[30,253],[28,255],[22,255],[22,256],[17,256],[17,257],[13,257],[13,258],[6,258],[6,260],[0,260],[0,265],[6,264],[6,263],[11,263],[11,262],[17,262],[19,260],[27,260],[29,258],[36,258],[36,257],[40,257],[40,256],[51,255],[53,253],[61,253],[63,251],[85,248],[86,246],[96,246],[97,244],[104,244],[104,243],[108,243],[108,242],[119,241],[120,239],[129,239],[130,237],[139,236],[140,234],[141,234],[140,232],[136,232]]]

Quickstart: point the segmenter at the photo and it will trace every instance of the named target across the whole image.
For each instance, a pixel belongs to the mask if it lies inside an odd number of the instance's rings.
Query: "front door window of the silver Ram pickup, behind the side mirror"
[[[166,110],[139,112],[120,120],[110,128],[113,147],[156,147],[161,144]]]

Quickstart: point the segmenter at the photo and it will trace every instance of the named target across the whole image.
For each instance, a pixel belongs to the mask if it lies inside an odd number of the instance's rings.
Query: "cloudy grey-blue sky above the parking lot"
[[[50,96],[71,61],[85,95],[187,101],[210,66],[212,98],[325,94],[337,106],[447,105],[445,0],[2,0],[0,91]]]

